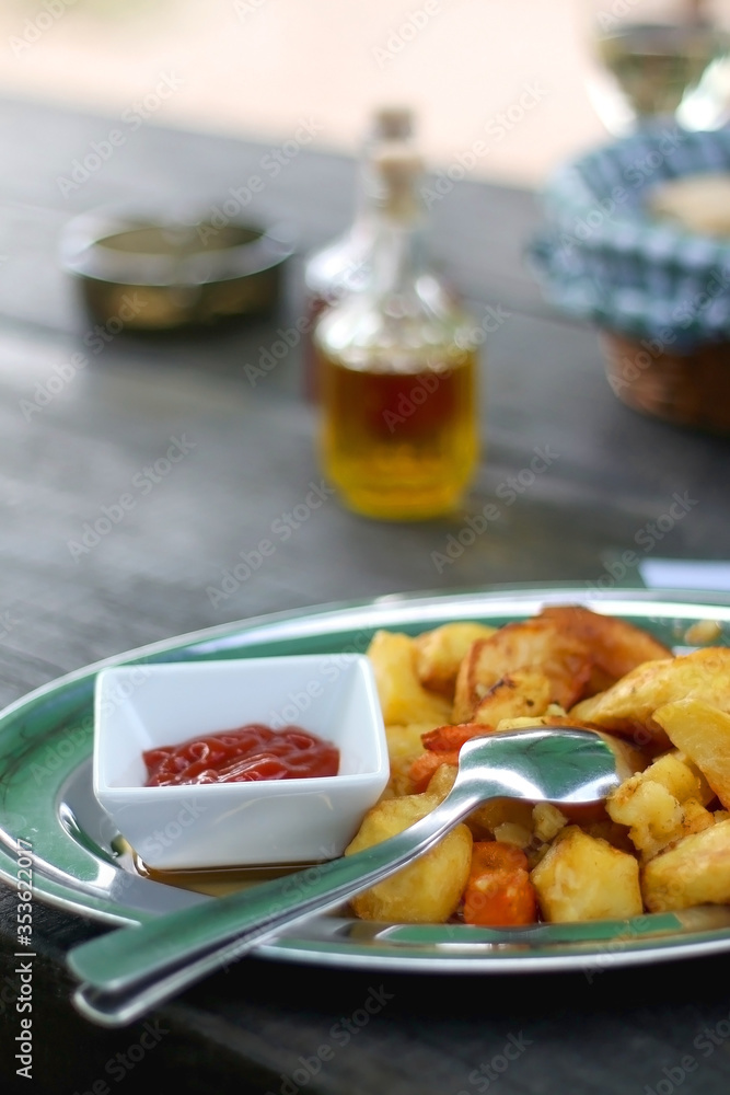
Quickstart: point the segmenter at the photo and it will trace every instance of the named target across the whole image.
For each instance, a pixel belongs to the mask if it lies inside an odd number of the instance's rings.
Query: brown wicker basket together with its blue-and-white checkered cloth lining
[[[647,212],[662,182],[730,174],[730,127],[661,122],[558,169],[529,256],[548,300],[599,332],[612,390],[680,426],[730,433],[730,239]]]

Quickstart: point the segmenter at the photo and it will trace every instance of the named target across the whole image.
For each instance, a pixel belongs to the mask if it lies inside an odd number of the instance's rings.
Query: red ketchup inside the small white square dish
[[[148,749],[142,758],[146,787],[302,780],[337,775],[339,769],[339,750],[332,742],[300,726],[274,730],[260,723]]]

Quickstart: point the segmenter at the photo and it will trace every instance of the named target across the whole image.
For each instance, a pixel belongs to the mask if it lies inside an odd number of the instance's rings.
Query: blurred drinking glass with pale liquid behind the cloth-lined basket
[[[610,132],[673,116],[730,120],[730,0],[578,0],[591,46],[588,91]]]

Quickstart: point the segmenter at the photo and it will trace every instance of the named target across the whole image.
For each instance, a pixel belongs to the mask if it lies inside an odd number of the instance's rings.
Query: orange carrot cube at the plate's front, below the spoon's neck
[[[537,920],[535,888],[520,848],[498,840],[475,842],[463,915],[466,924],[490,927]]]

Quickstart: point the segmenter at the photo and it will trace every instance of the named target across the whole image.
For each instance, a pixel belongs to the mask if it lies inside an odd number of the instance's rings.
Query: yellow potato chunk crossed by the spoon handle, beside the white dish
[[[345,855],[402,832],[426,817],[438,803],[439,798],[429,794],[384,799],[366,815]],[[472,833],[465,825],[459,825],[434,848],[359,894],[350,903],[361,920],[442,924],[459,906],[471,863]]]

